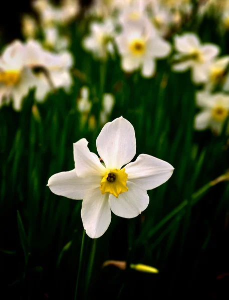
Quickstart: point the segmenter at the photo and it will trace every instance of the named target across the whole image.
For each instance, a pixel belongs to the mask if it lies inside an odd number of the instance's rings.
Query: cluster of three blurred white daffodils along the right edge
[[[177,72],[191,69],[192,81],[203,84],[196,93],[196,104],[201,111],[196,115],[197,130],[210,128],[220,134],[229,115],[229,56],[217,57],[220,48],[215,44],[201,43],[194,33],[185,33],[174,38],[177,54],[172,69]],[[228,128],[229,130],[229,128]]]

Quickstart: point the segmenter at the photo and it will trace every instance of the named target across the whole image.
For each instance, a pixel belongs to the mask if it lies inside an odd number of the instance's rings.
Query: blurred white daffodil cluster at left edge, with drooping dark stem
[[[12,42],[0,56],[0,106],[12,101],[14,109],[20,110],[31,88],[35,88],[38,101],[56,88],[68,92],[72,64],[72,55],[67,51],[52,53],[35,40]]]

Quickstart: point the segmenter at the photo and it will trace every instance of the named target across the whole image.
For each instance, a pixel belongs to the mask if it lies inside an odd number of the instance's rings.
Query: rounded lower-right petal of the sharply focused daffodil
[[[118,216],[131,218],[140,214],[149,204],[147,192],[133,182],[127,181],[128,191],[121,193],[118,198],[110,194],[111,210]]]

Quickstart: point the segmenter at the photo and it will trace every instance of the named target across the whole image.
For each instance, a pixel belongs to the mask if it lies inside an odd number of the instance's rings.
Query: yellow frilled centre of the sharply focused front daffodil
[[[116,198],[120,193],[128,190],[126,186],[127,173],[125,169],[107,169],[101,182],[100,189],[102,194],[109,192]]]

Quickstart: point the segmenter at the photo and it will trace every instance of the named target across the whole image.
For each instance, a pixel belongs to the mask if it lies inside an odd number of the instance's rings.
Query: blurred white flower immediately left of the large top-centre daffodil
[[[103,23],[93,22],[90,26],[90,34],[83,39],[83,47],[93,52],[99,59],[106,59],[108,53],[113,53],[112,40],[115,36],[115,27],[111,19]]]

